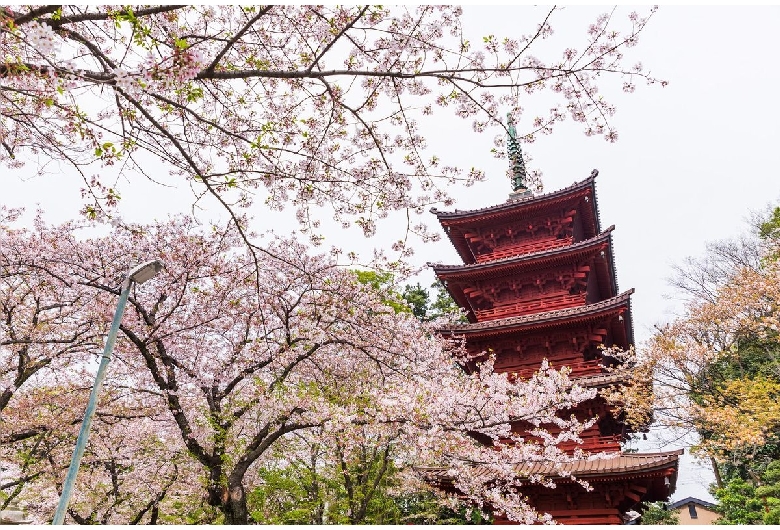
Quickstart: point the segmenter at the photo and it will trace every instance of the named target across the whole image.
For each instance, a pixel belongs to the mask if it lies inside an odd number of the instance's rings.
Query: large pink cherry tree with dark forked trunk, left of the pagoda
[[[92,464],[70,513],[77,521],[160,520],[182,474],[199,482],[194,472],[225,522],[246,523],[246,491],[258,462],[309,429],[337,438],[343,455],[357,450],[358,433],[367,436],[367,429],[375,439],[391,439],[404,448],[397,465],[409,473],[443,467],[466,500],[521,522],[543,516],[518,494],[516,466],[581,456],[556,447],[586,426],[559,411],[592,391],[545,367],[527,381],[494,374],[491,361],[467,374],[454,362],[461,344],[393,311],[383,293],[332,256],[308,256],[293,240],[275,240],[256,269],[233,225],[199,227],[188,218],[117,227],[105,237],[65,237],[71,228],[39,223],[5,232],[20,239],[19,247],[57,242],[50,252],[65,264],[58,274],[91,294],[81,309],[85,320],[110,321],[118,278],[130,265],[148,256],[167,264],[129,297],[105,383],[100,429],[108,435],[91,439]],[[35,409],[52,394],[47,388],[72,398],[66,418],[78,415],[86,392],[70,392],[68,384],[86,390],[86,364],[98,350],[96,343],[81,364],[71,359],[50,380],[26,381],[9,401],[9,418]],[[52,407],[58,402],[49,398]],[[72,440],[78,418],[63,425],[62,415],[51,416],[44,422],[51,438]],[[537,442],[512,434],[511,422],[521,420],[538,428]],[[547,433],[551,424],[558,434]],[[476,439],[504,446],[496,451]],[[20,453],[4,449],[2,459]],[[46,460],[46,480],[33,484],[56,491],[67,457],[60,449]],[[134,491],[143,495],[131,499]]]

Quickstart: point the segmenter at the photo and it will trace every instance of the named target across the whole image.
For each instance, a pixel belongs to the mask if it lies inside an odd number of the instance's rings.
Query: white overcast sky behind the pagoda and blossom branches
[[[604,10],[566,9],[559,17],[561,22],[553,19],[555,38],[562,43],[570,38],[581,42],[588,24]],[[629,11],[622,8],[618,16],[625,17]],[[472,6],[464,8],[463,20],[471,38],[481,40],[487,34],[503,37],[528,32],[530,21],[540,20],[541,14],[538,8]],[[633,59],[626,64],[641,60],[669,85],[638,84],[637,91],[627,95],[617,79],[601,81],[605,96],[618,109],[612,123],[619,141],[609,144],[601,138],[587,138],[567,122],[552,136],[524,146],[533,157],[532,166],[544,172],[546,191],[568,186],[599,169],[596,183],[602,226],[616,225],[613,238],[620,289],[636,289],[633,318],[638,342],[649,337],[654,324],[668,321],[680,309],[676,300],[668,298],[674,295],[666,281],[670,265],[700,254],[706,241],[744,231],[751,211],[780,203],[780,108],[775,103],[780,86],[778,27],[777,7],[662,7],[639,46],[630,50]],[[535,99],[528,101],[529,115],[547,108],[535,107],[541,102]],[[522,131],[522,122],[518,128]],[[432,151],[445,162],[479,166],[488,174],[487,182],[452,190],[455,207],[480,208],[506,199],[506,162],[491,157],[491,134],[476,137],[469,123],[443,120],[436,114],[425,130]],[[166,173],[160,169],[161,176]],[[67,168],[62,175],[45,179],[29,179],[29,175],[24,170],[6,174],[0,203],[33,209],[40,204],[53,222],[76,216],[81,184]],[[150,221],[188,212],[187,188],[161,190],[133,181],[121,191],[122,213],[128,220]],[[202,215],[205,219],[220,216],[216,210]],[[270,225],[279,233],[294,229],[260,208],[255,216],[258,230]],[[434,225],[434,216],[424,217]],[[399,235],[393,217],[388,221],[374,240],[364,242],[356,232],[332,230],[326,233],[326,245],[387,247]],[[446,238],[420,246],[415,260],[419,265],[458,263]],[[432,279],[426,273],[419,281],[427,286]],[[704,487],[712,480],[711,473],[690,466],[688,460],[686,455],[674,499],[697,496],[710,500]]]

